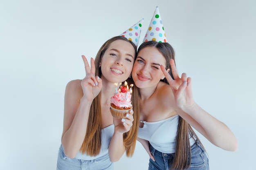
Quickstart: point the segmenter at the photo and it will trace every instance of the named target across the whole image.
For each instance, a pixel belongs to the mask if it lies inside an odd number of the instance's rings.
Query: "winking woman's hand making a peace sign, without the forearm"
[[[182,110],[185,110],[194,104],[191,87],[192,80],[190,77],[187,77],[186,73],[182,73],[181,78],[179,77],[173,59],[170,60],[170,64],[174,79],[165,70],[163,65],[161,65],[161,70],[173,91],[177,106],[179,106]]]

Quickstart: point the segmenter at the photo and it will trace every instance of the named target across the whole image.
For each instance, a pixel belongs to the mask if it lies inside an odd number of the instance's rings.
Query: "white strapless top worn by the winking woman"
[[[144,123],[143,128],[139,128],[138,137],[145,139],[156,150],[163,153],[175,153],[175,140],[179,124],[179,115],[174,115],[164,120]],[[192,137],[189,138],[190,145],[195,144]]]

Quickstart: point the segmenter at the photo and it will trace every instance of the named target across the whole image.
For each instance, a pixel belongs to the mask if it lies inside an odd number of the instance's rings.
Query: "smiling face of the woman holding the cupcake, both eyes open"
[[[135,49],[132,44],[116,40],[101,58],[101,73],[109,82],[124,82],[132,72],[134,59]]]

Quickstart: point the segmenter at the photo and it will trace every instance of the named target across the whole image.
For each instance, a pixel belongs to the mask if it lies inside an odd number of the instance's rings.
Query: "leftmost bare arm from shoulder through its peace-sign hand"
[[[91,58],[91,68],[85,56],[86,76],[83,80],[74,80],[67,84],[64,102],[64,121],[61,143],[65,155],[74,158],[83,144],[90,106],[92,100],[99,94],[102,81],[95,76],[94,60]]]

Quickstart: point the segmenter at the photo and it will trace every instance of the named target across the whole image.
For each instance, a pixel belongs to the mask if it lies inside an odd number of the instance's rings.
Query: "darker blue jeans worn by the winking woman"
[[[174,158],[174,153],[162,153],[150,145],[150,152],[155,158],[149,160],[148,170],[169,170]],[[208,157],[198,142],[191,146],[191,165],[187,170],[209,170]]]

